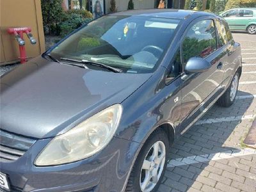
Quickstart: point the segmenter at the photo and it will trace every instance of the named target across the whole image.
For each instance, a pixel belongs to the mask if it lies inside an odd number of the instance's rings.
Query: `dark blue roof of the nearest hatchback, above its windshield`
[[[167,17],[172,19],[186,19],[191,15],[213,16],[212,13],[195,12],[191,10],[175,10],[175,9],[147,9],[147,10],[129,10],[125,12],[116,12],[109,15],[140,15],[149,17]]]

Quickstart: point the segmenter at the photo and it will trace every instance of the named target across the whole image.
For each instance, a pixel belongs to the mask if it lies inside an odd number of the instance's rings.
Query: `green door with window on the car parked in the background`
[[[252,10],[239,10],[238,17],[236,18],[237,22],[236,29],[246,30],[248,24],[253,20],[253,11]]]

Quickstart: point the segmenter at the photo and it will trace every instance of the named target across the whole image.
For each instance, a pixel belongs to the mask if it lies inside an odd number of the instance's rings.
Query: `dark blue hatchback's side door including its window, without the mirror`
[[[182,66],[189,58],[200,57],[211,67],[200,73],[184,74],[181,98],[180,132],[183,134],[204,113],[221,93],[223,53],[217,49],[214,20],[196,20],[188,27],[182,40]]]

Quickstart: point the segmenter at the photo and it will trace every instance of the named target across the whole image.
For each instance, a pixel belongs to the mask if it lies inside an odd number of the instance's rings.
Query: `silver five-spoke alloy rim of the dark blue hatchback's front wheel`
[[[156,186],[164,169],[166,149],[163,141],[157,141],[148,150],[140,172],[140,189],[149,192]]]

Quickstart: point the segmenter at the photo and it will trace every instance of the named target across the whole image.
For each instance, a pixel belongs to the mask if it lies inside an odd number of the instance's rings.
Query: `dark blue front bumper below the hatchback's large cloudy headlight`
[[[98,154],[75,163],[35,166],[51,139],[38,140],[19,159],[0,162],[11,191],[124,191],[140,143],[113,138]]]

